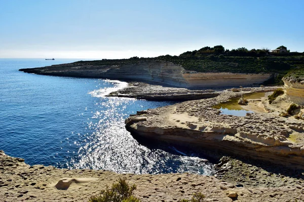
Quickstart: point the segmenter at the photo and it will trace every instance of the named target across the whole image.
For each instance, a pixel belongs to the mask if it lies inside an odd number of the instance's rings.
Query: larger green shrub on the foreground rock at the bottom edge
[[[126,182],[126,178],[119,178],[118,183],[113,183],[109,188],[100,191],[99,195],[91,196],[90,202],[141,202],[136,196],[133,195],[133,191],[136,189],[136,185],[129,185]]]

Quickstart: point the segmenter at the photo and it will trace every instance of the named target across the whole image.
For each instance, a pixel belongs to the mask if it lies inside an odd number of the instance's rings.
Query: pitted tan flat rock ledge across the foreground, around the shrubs
[[[88,201],[89,196],[123,177],[137,185],[134,194],[142,201],[179,201],[191,198],[194,192],[202,192],[206,201],[304,201],[300,185],[244,188],[213,176],[188,173],[134,175],[29,166],[0,150],[1,201]]]

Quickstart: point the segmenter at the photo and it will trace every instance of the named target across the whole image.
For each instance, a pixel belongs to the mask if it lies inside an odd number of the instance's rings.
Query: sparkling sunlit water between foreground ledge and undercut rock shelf
[[[191,172],[210,175],[213,166],[202,158],[187,156],[175,148],[168,153],[159,148],[141,145],[125,129],[128,106],[138,100],[107,97],[101,99],[97,111],[87,122],[89,133],[82,136],[84,145],[78,157],[67,163],[68,168],[92,168],[118,173],[158,174]],[[170,149],[170,148],[169,148]],[[192,154],[190,154],[192,155]]]

